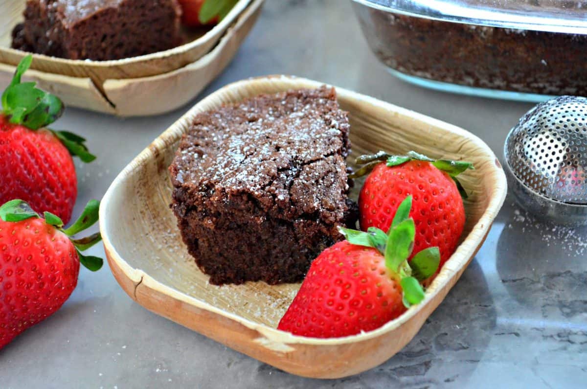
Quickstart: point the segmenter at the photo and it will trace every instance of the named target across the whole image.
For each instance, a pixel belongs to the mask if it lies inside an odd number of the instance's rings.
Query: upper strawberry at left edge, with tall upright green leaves
[[[69,222],[77,196],[72,154],[84,162],[95,157],[85,139],[65,131],[43,129],[59,118],[61,101],[21,83],[31,65],[27,56],[18,66],[11,85],[2,95],[0,115],[0,204],[23,199],[37,212],[49,211]]]

